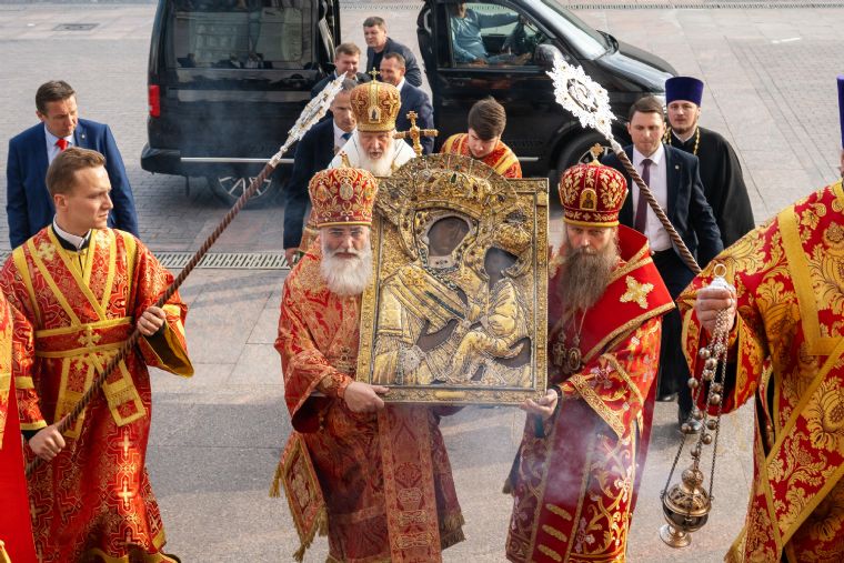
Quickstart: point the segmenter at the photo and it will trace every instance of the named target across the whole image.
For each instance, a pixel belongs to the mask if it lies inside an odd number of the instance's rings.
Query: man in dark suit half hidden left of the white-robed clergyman
[[[351,93],[358,83],[343,80],[342,89],[331,102],[332,119],[320,121],[299,141],[293,155],[293,171],[284,195],[284,258],[293,264],[302,242],[304,217],[311,200],[308,183],[313,174],[329,168],[331,159],[354,131]]]

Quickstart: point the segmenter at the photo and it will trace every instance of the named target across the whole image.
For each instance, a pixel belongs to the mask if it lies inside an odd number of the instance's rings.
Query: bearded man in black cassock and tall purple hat
[[[665,81],[669,128],[665,144],[692,153],[701,161],[703,193],[712,207],[724,248],[751,231],[753,209],[742,178],[742,165],[721,134],[697,124],[701,117],[703,82],[692,77]]]

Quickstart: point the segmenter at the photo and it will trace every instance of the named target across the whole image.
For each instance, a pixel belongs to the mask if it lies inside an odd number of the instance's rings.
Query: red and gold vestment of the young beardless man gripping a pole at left
[[[14,386],[21,428],[60,421],[96,372],[131,334],[135,319],[163,293],[172,275],[131,234],[91,232],[82,251],[62,248],[51,227],[17,248],[0,286],[21,313],[14,326]],[[144,466],[151,390],[147,365],[192,375],[178,294],[164,305],[161,332],[109,376],[77,422],[66,448],[29,479],[32,527],[42,563],[109,563],[161,554],[164,530]],[[33,459],[27,448],[28,461]],[[134,561],[132,559],[132,561]]]

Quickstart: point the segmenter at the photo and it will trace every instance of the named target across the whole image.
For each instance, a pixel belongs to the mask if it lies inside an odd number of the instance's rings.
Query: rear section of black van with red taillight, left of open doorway
[[[336,0],[160,0],[141,168],[205,177],[233,202],[329,71]],[[292,162],[292,153],[283,161]],[[289,168],[289,167],[288,167]],[[284,167],[254,195],[269,200]]]

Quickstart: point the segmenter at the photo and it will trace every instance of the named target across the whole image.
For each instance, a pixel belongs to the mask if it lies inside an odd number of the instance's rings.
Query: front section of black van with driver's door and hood
[[[607,90],[619,118],[613,133],[622,144],[629,140],[630,105],[647,93],[664,101],[665,80],[676,74],[663,59],[595,31],[556,0],[426,0],[416,23],[440,139],[465,130],[472,103],[493,95],[506,108],[503,141],[519,157],[524,175],[555,180],[590,147],[606,144],[554,101],[545,73],[549,51],[582,66]],[[468,60],[479,54],[479,46],[468,53],[460,44],[471,41],[465,30],[476,31],[478,23],[484,24],[485,61]]]

